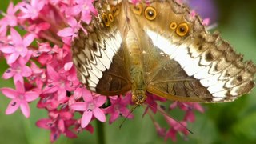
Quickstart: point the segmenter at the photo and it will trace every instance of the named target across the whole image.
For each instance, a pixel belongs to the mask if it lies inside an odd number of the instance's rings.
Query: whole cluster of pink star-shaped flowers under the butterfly
[[[93,133],[90,122],[95,118],[109,122],[120,116],[133,118],[129,106],[130,94],[126,96],[106,97],[86,90],[76,76],[72,62],[70,42],[82,23],[90,23],[97,14],[94,0],[30,0],[12,2],[6,13],[1,12],[0,19],[0,56],[6,58],[9,68],[2,78],[13,78],[15,89],[1,88],[2,94],[10,98],[6,114],[13,114],[18,108],[26,117],[30,117],[29,103],[38,101],[38,109],[48,111],[48,118],[36,123],[38,127],[50,130],[50,140],[54,142],[60,134],[76,138],[76,132],[88,130]],[[134,1],[136,2],[136,1]],[[84,30],[86,33],[86,30]],[[106,102],[110,106],[102,108]],[[149,94],[145,114],[155,114],[163,109],[159,102],[165,99]],[[182,125],[167,117],[169,128],[162,128],[158,122],[154,125],[158,134],[175,140],[176,134],[185,129],[187,122],[194,122],[193,110],[203,111],[198,104],[174,102],[170,109],[180,108],[185,111]],[[148,111],[150,110],[150,111]],[[81,118],[75,119],[78,112]]]

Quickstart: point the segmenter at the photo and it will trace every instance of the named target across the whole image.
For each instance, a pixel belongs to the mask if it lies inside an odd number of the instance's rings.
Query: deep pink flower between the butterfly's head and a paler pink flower
[[[117,120],[119,116],[123,116],[126,118],[133,118],[133,114],[130,114],[130,110],[127,106],[130,104],[131,97],[109,97],[111,105],[104,109],[106,114],[110,114],[110,124]]]

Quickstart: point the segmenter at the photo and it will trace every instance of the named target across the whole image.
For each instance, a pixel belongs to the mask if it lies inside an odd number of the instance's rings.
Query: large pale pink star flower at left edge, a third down
[[[10,35],[13,43],[0,49],[2,53],[10,54],[7,58],[8,64],[14,63],[19,56],[22,58],[26,57],[26,54],[28,54],[27,46],[30,46],[30,43],[34,41],[34,34],[28,34],[22,39],[16,30],[10,29]]]

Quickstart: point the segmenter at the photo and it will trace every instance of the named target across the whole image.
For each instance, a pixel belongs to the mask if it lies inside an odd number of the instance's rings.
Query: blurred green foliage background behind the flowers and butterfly
[[[16,2],[15,0],[14,2]],[[0,10],[6,11],[8,0],[0,2]],[[222,38],[228,40],[234,48],[245,55],[245,59],[252,59],[256,63],[256,1],[254,0],[216,0],[218,8],[218,31]],[[6,70],[6,62],[0,59],[0,74]],[[0,87],[13,86],[12,81],[0,79]],[[4,144],[47,144],[50,143],[50,131],[39,129],[35,122],[46,118],[45,110],[36,109],[36,102],[31,107],[31,117],[24,118],[20,110],[12,115],[5,115],[10,100],[0,95],[0,142]],[[178,136],[177,143],[256,143],[256,89],[235,102],[221,104],[204,104],[206,112],[196,113],[196,122],[188,128],[194,132],[187,140]],[[150,118],[141,118],[143,108],[135,110],[134,120],[127,120],[119,130],[121,120],[109,125],[104,123],[106,143],[171,143],[159,138]],[[181,111],[171,113],[174,118],[181,117]],[[161,123],[162,116],[156,116]],[[97,129],[94,134],[83,132],[78,138],[69,139],[63,136],[56,143],[96,143]]]

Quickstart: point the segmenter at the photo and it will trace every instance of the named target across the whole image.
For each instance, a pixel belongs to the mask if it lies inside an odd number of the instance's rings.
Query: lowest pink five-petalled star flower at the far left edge
[[[32,102],[38,98],[38,91],[25,91],[22,82],[16,82],[16,90],[10,88],[1,88],[2,94],[7,98],[12,99],[9,106],[6,109],[6,114],[13,114],[18,107],[22,110],[22,114],[26,117],[30,117],[30,106],[28,102]]]

